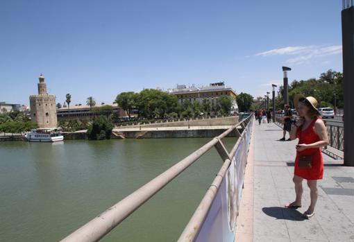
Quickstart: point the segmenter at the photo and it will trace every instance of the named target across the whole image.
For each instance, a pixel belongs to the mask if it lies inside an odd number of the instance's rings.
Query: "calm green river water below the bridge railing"
[[[0,241],[59,241],[208,141],[1,142]],[[101,241],[176,241],[221,165],[212,148]]]

